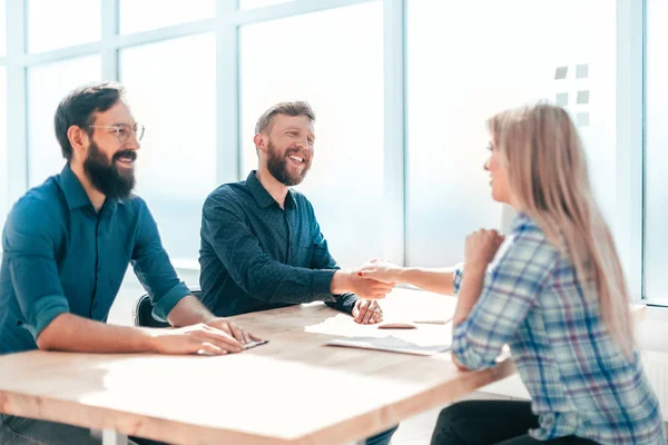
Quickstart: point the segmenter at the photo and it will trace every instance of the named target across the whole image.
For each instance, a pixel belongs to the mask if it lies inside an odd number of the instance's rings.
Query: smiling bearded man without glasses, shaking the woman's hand
[[[289,188],[302,182],[311,167],[314,121],[303,101],[268,109],[255,129],[257,171],[245,181],[218,187],[206,199],[199,281],[203,301],[214,314],[325,301],[352,313],[357,323],[382,320],[376,299],[393,285],[338,269],[313,206]],[[367,444],[387,444],[393,433],[381,433]]]

